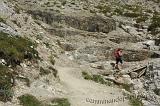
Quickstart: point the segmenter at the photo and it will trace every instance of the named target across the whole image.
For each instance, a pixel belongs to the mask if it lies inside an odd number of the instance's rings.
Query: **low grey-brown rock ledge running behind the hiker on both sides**
[[[107,46],[87,46],[81,48],[72,55],[76,60],[85,60],[88,62],[115,60],[114,51]],[[93,58],[94,57],[94,58]],[[145,50],[123,50],[123,60],[126,62],[143,61],[148,58],[160,58],[160,54]]]

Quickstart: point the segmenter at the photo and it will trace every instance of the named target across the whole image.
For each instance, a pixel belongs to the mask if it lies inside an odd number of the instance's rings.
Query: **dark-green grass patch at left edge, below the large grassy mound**
[[[14,85],[13,73],[7,66],[0,64],[0,101],[10,101],[12,98],[12,87]]]

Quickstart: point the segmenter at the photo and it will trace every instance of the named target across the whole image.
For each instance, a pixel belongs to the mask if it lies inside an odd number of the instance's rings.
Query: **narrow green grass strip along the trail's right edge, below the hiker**
[[[86,80],[92,80],[100,84],[105,84],[107,86],[111,86],[112,82],[104,80],[101,75],[89,75],[87,72],[82,72],[82,76]]]

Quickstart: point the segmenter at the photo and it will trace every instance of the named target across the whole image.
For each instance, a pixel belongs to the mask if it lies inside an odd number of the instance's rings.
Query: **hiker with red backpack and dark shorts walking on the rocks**
[[[115,56],[115,59],[116,59],[116,64],[114,66],[114,69],[122,69],[122,64],[123,64],[123,61],[122,61],[122,49],[121,48],[118,48],[117,50],[115,50],[114,52],[114,56]],[[119,63],[121,64],[120,67],[119,67]]]

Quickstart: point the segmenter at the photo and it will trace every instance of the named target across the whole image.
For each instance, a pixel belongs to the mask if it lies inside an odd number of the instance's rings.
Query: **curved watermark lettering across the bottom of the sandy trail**
[[[125,102],[126,100],[132,100],[132,99],[137,99],[138,101],[142,101],[141,98],[147,99],[147,97],[142,97],[142,96],[136,96],[136,95],[127,95],[127,96],[118,96],[116,98],[111,98],[111,99],[93,99],[93,98],[86,98],[87,103],[91,104],[112,104],[112,103],[120,103],[120,102]],[[158,105],[160,101],[157,101]],[[157,105],[157,104],[156,104]]]

